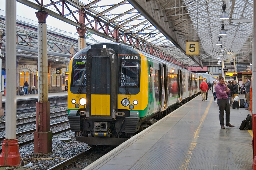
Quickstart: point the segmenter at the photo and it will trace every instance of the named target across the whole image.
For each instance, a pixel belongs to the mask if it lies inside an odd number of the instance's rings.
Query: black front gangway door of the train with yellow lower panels
[[[111,65],[112,63],[112,65]],[[113,49],[87,51],[87,110],[90,115],[112,118],[117,110],[117,57]]]

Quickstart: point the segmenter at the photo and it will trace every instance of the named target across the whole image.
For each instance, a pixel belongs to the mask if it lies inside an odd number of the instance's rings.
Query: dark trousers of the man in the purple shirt
[[[229,98],[227,99],[218,99],[219,105],[219,123],[224,125],[224,110],[226,111],[226,124],[229,124],[229,115],[230,115],[230,105]]]

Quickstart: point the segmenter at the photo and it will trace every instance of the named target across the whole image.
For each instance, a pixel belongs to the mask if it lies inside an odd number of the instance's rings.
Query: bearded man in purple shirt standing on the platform
[[[226,111],[226,126],[234,127],[234,125],[229,123],[230,115],[230,105],[228,94],[230,94],[229,87],[224,80],[224,77],[219,77],[219,83],[215,86],[215,92],[218,99],[219,105],[219,123],[222,129],[225,129],[224,126],[224,110]]]

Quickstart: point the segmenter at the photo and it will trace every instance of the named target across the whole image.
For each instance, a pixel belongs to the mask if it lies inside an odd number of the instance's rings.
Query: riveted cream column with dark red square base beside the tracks
[[[50,131],[50,102],[48,102],[47,24],[48,12],[36,12],[38,19],[38,102],[36,103],[36,127],[34,153],[52,152]]]

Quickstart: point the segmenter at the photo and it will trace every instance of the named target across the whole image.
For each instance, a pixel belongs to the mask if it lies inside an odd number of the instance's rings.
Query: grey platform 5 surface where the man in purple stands
[[[252,131],[239,130],[251,111],[231,108],[235,127],[221,129],[212,94],[201,100],[195,97],[84,170],[251,170]]]

